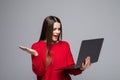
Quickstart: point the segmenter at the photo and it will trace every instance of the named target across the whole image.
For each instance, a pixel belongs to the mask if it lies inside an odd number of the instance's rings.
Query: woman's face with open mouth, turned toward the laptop
[[[58,41],[60,32],[61,32],[61,30],[60,30],[60,23],[55,22],[54,25],[53,25],[53,35],[52,35],[52,41],[53,42],[56,43]]]

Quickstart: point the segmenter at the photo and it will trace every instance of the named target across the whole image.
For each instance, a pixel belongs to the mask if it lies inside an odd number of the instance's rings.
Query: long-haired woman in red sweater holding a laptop
[[[40,39],[31,49],[20,48],[32,54],[32,69],[37,80],[71,80],[69,74],[78,75],[90,66],[90,57],[87,57],[80,69],[62,69],[73,65],[74,60],[68,42],[62,41],[62,23],[55,16],[45,18]]]

